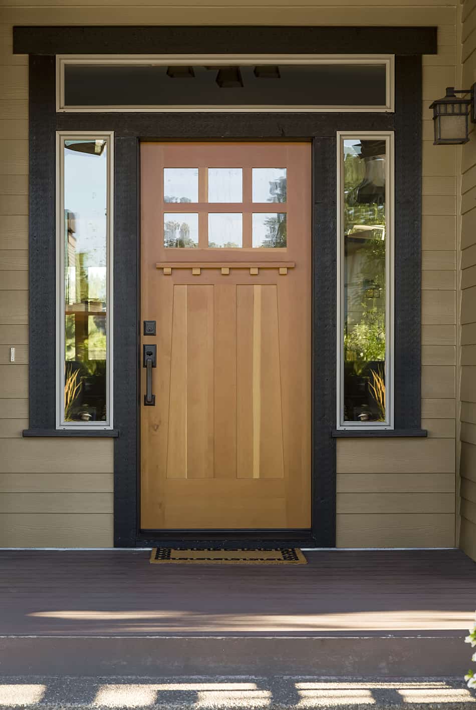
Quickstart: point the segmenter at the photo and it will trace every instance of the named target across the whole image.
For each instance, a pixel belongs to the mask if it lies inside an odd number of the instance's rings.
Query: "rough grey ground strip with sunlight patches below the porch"
[[[18,710],[471,710],[458,678],[335,679],[302,676],[6,677],[0,706]]]

